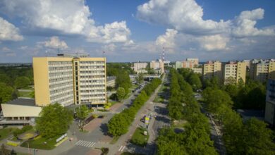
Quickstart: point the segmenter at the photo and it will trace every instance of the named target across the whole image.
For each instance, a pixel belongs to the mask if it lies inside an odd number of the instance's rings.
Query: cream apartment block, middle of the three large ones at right
[[[246,75],[246,63],[245,62],[233,62],[230,61],[223,65],[223,81],[224,84],[235,83],[238,84],[242,79],[245,82]]]

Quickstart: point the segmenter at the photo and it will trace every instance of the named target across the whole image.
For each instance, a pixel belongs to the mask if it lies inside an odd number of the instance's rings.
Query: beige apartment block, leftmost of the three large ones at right
[[[222,78],[221,62],[220,61],[207,61],[202,67],[202,77],[204,80],[211,79],[212,77]]]

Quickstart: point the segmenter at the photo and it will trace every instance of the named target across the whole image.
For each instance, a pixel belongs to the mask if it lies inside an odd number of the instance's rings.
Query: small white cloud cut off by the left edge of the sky
[[[8,23],[0,17],[0,40],[20,41],[23,40],[23,36],[20,35],[19,29],[13,24]]]

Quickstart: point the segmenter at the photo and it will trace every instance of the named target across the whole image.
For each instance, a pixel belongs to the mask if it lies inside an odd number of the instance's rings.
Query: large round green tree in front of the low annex
[[[35,128],[43,137],[56,137],[66,133],[72,121],[72,111],[58,103],[50,104],[42,108]]]

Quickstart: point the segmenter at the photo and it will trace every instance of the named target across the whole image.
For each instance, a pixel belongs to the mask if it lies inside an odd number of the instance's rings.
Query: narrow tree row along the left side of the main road
[[[135,114],[138,113],[139,109],[154,92],[154,89],[156,89],[160,84],[161,80],[159,78],[154,78],[142,89],[141,93],[135,98],[135,101],[133,101],[130,108],[124,109],[121,113],[114,115],[107,124],[109,134],[113,136],[126,134],[130,124],[135,118]]]

